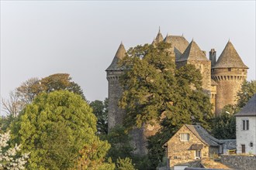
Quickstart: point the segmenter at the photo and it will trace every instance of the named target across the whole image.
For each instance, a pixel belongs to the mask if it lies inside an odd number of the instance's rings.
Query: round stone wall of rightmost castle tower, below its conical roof
[[[216,114],[227,104],[237,104],[237,92],[247,78],[247,70],[223,68],[213,69],[212,79],[216,81]]]

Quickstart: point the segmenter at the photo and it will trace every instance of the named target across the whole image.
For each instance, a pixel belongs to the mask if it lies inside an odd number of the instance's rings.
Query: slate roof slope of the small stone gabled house
[[[211,136],[204,128],[202,128],[200,125],[189,125],[189,124],[185,124],[185,126],[187,128],[189,128],[190,131],[192,131],[193,134],[195,134],[195,136],[197,138],[199,138],[203,143],[205,143],[206,145],[209,146],[219,146],[220,144],[222,144],[223,142],[221,142],[220,140],[214,138],[213,136]]]

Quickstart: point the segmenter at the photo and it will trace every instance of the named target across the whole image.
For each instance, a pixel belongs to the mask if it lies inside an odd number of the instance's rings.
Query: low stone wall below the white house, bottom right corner
[[[256,155],[221,155],[220,161],[234,169],[254,170]]]

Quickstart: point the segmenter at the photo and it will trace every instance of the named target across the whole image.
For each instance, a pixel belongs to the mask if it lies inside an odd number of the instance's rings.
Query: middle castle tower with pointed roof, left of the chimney
[[[176,66],[180,68],[185,64],[192,64],[202,74],[202,89],[210,94],[211,91],[211,62],[206,58],[206,53],[202,51],[194,40],[189,43],[185,52],[176,60]]]

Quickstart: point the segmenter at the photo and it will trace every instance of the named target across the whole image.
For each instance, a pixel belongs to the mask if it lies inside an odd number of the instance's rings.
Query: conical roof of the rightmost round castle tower
[[[243,63],[240,58],[237,50],[234,48],[233,44],[228,41],[225,49],[220,54],[219,59],[217,60],[213,68],[244,68],[248,69],[247,66]]]

